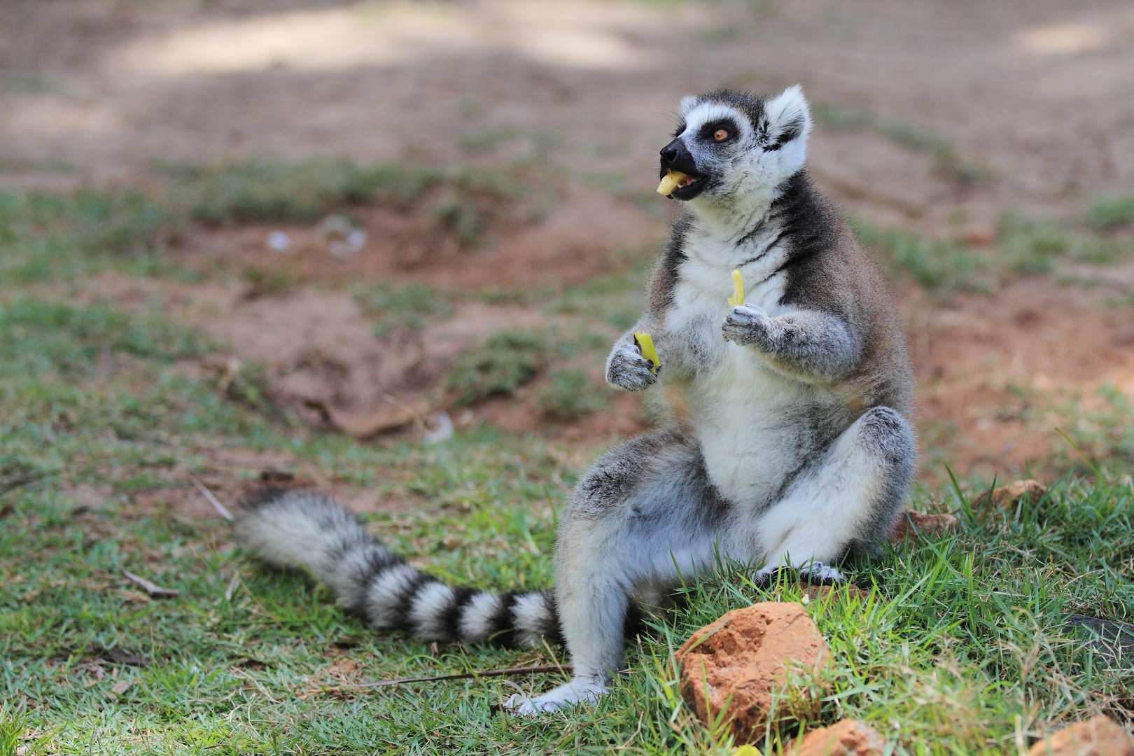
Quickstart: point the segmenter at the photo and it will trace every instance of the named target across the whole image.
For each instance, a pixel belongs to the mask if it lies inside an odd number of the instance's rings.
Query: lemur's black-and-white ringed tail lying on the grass
[[[550,591],[492,593],[446,585],[388,550],[346,508],[302,490],[268,489],[237,523],[269,564],[306,567],[339,603],[375,628],[422,640],[538,646],[561,644]]]

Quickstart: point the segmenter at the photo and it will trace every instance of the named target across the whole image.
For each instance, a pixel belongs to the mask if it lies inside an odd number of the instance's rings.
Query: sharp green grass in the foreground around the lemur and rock
[[[354,456],[392,473],[387,485],[416,492],[420,513],[371,524],[435,574],[539,587],[550,580],[555,512],[572,470],[517,441],[476,433],[428,452],[316,442],[301,455]],[[401,634],[370,631],[325,588],[249,562],[220,521],[187,519],[160,501],[138,508],[129,486],[115,485],[113,503],[78,517],[50,483],[7,496],[15,511],[0,537],[0,674],[6,715],[42,737],[31,753],[528,754],[627,742],[646,754],[718,753],[723,744],[674,694],[671,649],[723,611],[798,598],[789,587],[758,591],[727,566],[688,591],[688,612],[631,644],[631,672],[599,706],[538,721],[493,715],[511,691],[499,681],[352,691],[332,664],[349,660],[349,679],[363,680],[547,654],[442,647],[434,656]],[[832,652],[819,721],[865,720],[895,753],[991,754],[1012,747],[1017,727],[1034,737],[1085,713],[1120,713],[1134,672],[1108,669],[1059,625],[1072,612],[1131,619],[1134,490],[1067,481],[1007,520],[960,516],[955,537],[853,568],[858,585],[875,588],[864,608],[844,593],[807,605]],[[122,569],[181,596],[139,603]],[[103,662],[95,681],[92,644],[154,661]],[[117,680],[134,685],[115,697]]]

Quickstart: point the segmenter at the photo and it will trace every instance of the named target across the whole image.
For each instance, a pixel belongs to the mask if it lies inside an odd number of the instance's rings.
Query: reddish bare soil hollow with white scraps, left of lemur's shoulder
[[[353,215],[366,232],[356,252],[336,255],[335,239],[315,226],[251,224],[197,228],[174,248],[179,262],[208,270],[217,264],[289,282],[423,281],[442,288],[538,287],[582,283],[625,266],[625,252],[651,244],[665,224],[632,202],[570,185],[539,222],[497,224],[475,245],[462,245],[428,212],[361,207]],[[269,235],[284,232],[278,252]]]

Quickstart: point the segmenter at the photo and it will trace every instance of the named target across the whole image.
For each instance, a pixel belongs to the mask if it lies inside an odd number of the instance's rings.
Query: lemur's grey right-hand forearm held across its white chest
[[[760,307],[741,305],[720,328],[726,340],[752,347],[776,369],[804,380],[844,379],[857,367],[862,354],[845,320],[816,309],[770,317]]]

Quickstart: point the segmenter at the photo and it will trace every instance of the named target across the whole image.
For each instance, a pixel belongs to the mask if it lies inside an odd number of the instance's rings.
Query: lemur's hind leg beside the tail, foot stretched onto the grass
[[[534,714],[607,693],[623,666],[632,594],[710,564],[729,513],[700,447],[680,431],[645,433],[600,457],[575,486],[556,546],[556,605],[574,678],[508,706]]]

